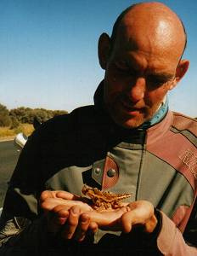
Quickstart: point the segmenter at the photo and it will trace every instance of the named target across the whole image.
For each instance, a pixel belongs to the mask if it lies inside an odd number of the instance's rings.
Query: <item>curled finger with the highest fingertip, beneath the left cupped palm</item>
[[[80,213],[81,213],[80,207],[74,206],[70,208],[69,218],[67,218],[64,226],[64,230],[62,231],[62,236],[65,239],[71,239],[74,236],[76,227],[79,222]]]

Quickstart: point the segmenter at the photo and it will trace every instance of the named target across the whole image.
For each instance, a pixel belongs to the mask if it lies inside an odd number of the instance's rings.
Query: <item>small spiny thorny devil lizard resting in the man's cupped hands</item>
[[[114,194],[110,191],[102,191],[84,184],[82,194],[87,195],[91,200],[91,207],[98,212],[123,207],[121,201],[131,197],[132,194]]]

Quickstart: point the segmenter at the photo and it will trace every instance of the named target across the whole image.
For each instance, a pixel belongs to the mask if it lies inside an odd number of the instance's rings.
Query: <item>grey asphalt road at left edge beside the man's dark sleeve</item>
[[[8,181],[14,171],[20,151],[14,147],[14,141],[0,142],[0,207],[3,206]]]

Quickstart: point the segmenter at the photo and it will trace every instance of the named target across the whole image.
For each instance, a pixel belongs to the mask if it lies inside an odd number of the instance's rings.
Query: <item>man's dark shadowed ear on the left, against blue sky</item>
[[[107,66],[107,61],[110,55],[110,37],[103,33],[98,39],[98,59],[100,67],[103,69]]]

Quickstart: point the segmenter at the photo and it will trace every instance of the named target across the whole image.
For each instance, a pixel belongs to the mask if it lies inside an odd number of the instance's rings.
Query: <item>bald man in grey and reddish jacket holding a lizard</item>
[[[94,105],[42,124],[20,154],[2,255],[197,255],[197,125],[167,100],[189,68],[186,43],[162,3],[132,5],[100,36]],[[131,197],[107,208],[87,187],[94,207],[84,184]]]

